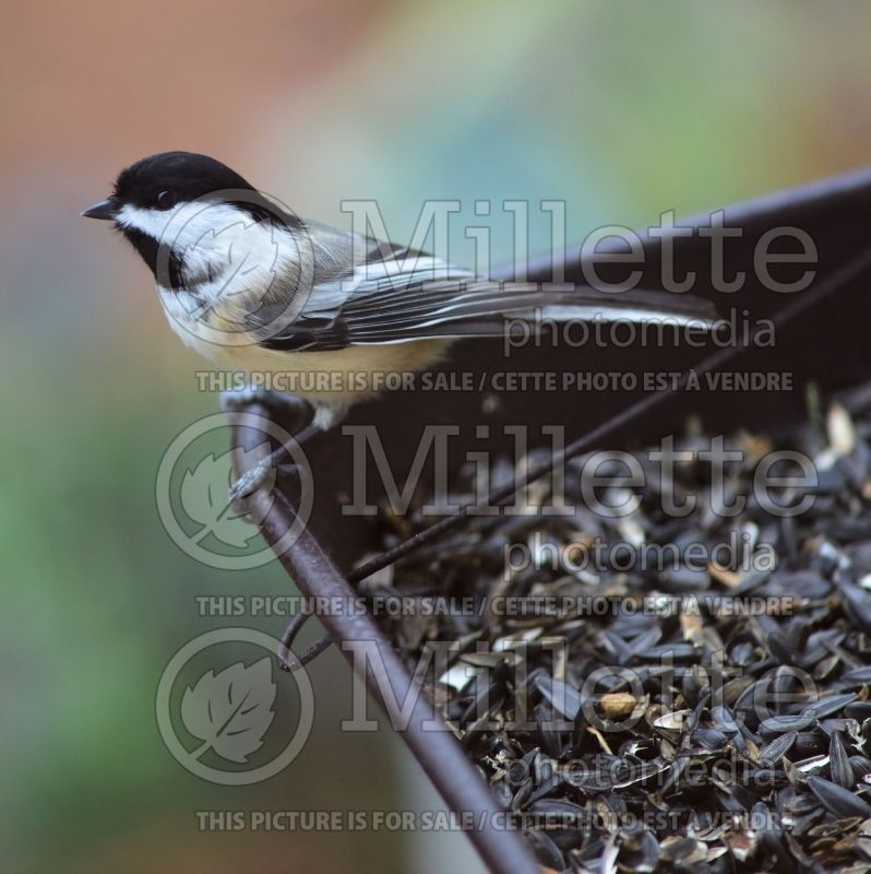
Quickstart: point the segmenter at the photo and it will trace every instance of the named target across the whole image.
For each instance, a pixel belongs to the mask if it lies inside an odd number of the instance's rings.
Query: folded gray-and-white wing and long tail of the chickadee
[[[502,336],[506,318],[536,315],[557,321],[670,319],[700,328],[716,316],[711,304],[687,295],[498,283],[393,244],[367,239],[356,247],[362,251],[356,262],[353,248],[350,235],[333,238],[324,247],[331,256],[327,269],[315,276],[293,323],[264,335],[262,346],[317,352],[436,338]]]

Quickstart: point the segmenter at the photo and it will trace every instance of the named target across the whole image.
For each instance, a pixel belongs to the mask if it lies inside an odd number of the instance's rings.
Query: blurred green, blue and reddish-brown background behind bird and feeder
[[[310,671],[312,736],[277,777],[215,787],[166,751],[162,671],[239,624],[200,616],[195,598],[293,589],[274,563],[203,567],[163,530],[160,457],[217,399],[195,390],[201,363],[133,250],[79,212],[170,149],[326,222],[346,222],[343,199],[377,199],[397,236],[431,198],[564,199],[570,239],[716,209],[868,163],[871,8],[8,0],[3,13],[3,870],[480,871],[457,834],[198,829],[198,810],[439,802],[386,728],[341,734],[335,651]],[[511,239],[493,212],[498,261]],[[533,221],[530,250],[547,245]],[[284,619],[242,624],[279,635]]]

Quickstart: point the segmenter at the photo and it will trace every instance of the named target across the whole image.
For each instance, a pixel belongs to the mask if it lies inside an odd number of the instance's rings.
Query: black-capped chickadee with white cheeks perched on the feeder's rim
[[[232,370],[306,375],[311,427],[325,429],[461,338],[506,319],[663,321],[709,327],[711,305],[661,292],[548,291],[477,279],[442,259],[302,221],[214,158],[166,152],[133,164],[85,210],[112,221],[154,273],[176,333]],[[318,375],[325,378],[320,382]],[[264,480],[249,476],[237,495]]]

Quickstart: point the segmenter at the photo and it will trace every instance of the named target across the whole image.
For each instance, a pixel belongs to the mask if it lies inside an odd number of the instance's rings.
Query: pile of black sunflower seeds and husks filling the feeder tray
[[[711,445],[696,426],[676,449]],[[754,472],[777,448],[819,472],[783,488],[784,503],[813,498],[798,516],[754,498]],[[641,500],[628,516],[580,500],[569,516],[478,516],[363,586],[547,869],[871,870],[871,391],[721,449],[742,453],[723,483],[748,498],[736,516],[715,511],[714,465],[693,451],[672,481],[659,469],[630,489]],[[585,461],[569,465],[561,503],[580,494]],[[497,463],[488,486],[515,473]],[[464,471],[453,499],[469,500],[480,477]],[[624,504],[624,482],[599,488],[602,503]],[[545,506],[556,487],[524,497]],[[663,491],[696,505],[669,516]],[[385,509],[382,545],[440,518],[426,504]],[[657,545],[730,539],[731,564],[641,560]],[[613,568],[542,545],[594,541],[616,546]],[[528,566],[509,562],[508,544],[525,546]]]

